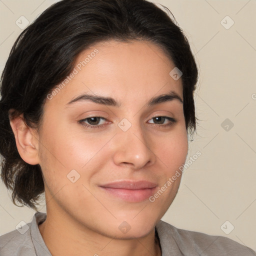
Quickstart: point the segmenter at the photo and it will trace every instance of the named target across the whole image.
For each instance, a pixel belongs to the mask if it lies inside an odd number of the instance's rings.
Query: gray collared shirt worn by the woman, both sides
[[[46,213],[36,212],[26,228],[1,235],[0,256],[51,256],[38,228],[45,219]],[[156,224],[155,230],[162,256],[256,255],[252,249],[227,237],[179,229],[162,220]]]

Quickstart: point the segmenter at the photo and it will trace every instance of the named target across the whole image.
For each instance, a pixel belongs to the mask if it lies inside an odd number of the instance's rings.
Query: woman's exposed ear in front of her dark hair
[[[12,109],[10,109],[11,111]],[[10,112],[9,111],[9,112]],[[36,132],[24,122],[23,114],[10,120],[20,157],[29,164],[39,163],[38,138]]]

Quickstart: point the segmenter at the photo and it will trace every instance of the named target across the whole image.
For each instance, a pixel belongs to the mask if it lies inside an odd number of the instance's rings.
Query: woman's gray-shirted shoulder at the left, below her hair
[[[30,228],[31,223],[27,223],[23,228]],[[0,255],[16,256],[16,255],[35,255],[34,247],[31,241],[30,232],[26,230],[19,232],[18,230],[10,231],[0,236]]]

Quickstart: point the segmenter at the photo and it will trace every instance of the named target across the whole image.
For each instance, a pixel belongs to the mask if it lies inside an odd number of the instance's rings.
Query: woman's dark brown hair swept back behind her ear
[[[15,205],[18,201],[37,210],[44,184],[40,165],[20,157],[9,118],[23,114],[26,125],[38,130],[47,94],[71,72],[82,50],[108,39],[146,40],[161,47],[182,72],[186,129],[195,131],[197,67],[174,17],[146,0],[61,0],[22,31],[1,75],[1,178]],[[9,116],[11,108],[15,111]]]

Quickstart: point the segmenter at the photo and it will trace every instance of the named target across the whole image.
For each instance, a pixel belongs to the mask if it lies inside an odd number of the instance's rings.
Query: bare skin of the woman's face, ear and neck
[[[39,133],[24,124],[22,115],[10,121],[20,156],[42,169],[47,218],[38,227],[52,255],[161,255],[154,228],[174,199],[181,175],[154,202],[127,202],[98,185],[143,179],[159,189],[185,162],[182,102],[146,106],[170,90],[183,100],[182,81],[172,79],[174,64],[150,42],[105,41],[82,51],[76,63],[95,48],[95,57],[46,100]],[[122,106],[86,100],[67,104],[85,92],[111,96]],[[92,116],[105,118],[97,124],[105,126],[86,128],[78,122]],[[155,116],[176,122],[163,127],[170,121],[157,122]],[[117,125],[123,118],[131,123],[125,132]],[[67,178],[72,169],[80,175],[74,183]],[[123,221],[131,227],[126,233],[118,228]]]

